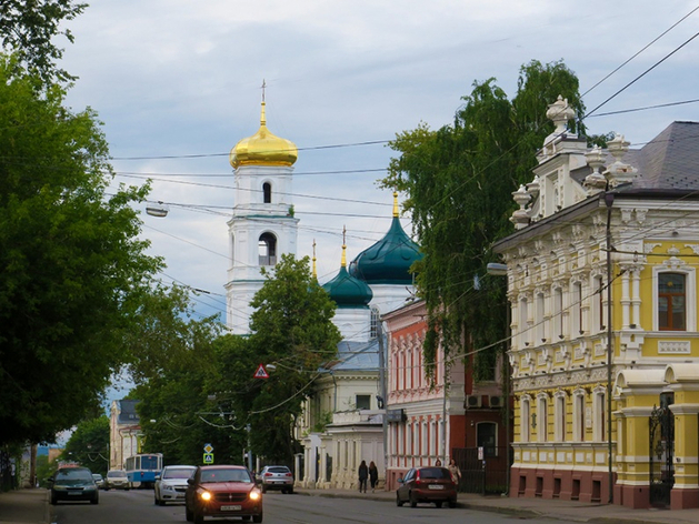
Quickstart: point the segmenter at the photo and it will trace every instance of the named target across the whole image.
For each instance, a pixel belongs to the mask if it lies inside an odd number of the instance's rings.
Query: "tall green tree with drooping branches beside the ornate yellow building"
[[[531,61],[520,69],[512,100],[495,79],[476,82],[451,125],[431,131],[420,124],[390,143],[399,157],[381,184],[408,194],[406,208],[425,252],[416,269],[428,309],[428,364],[439,342],[447,355],[468,355],[506,332],[505,282],[483,275],[497,261],[490,245],[512,232],[511,193],[530,180],[536,153],[555,128],[546,111],[558,95],[580,122],[585,107],[575,73],[562,62]],[[478,352],[477,379],[492,377],[503,349]]]

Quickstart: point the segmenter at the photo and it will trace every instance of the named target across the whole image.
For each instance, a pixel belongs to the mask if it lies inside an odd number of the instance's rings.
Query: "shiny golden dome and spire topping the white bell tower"
[[[281,139],[267,129],[264,102],[260,115],[260,129],[252,137],[242,139],[230,150],[229,161],[233,169],[239,165],[293,165],[299,153],[291,140]]]

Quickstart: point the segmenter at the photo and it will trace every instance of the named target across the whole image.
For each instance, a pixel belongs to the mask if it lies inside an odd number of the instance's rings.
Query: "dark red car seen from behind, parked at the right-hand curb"
[[[447,502],[449,507],[457,505],[457,483],[446,467],[413,467],[396,491],[396,504],[409,502],[415,507],[420,502],[435,503],[437,507]]]

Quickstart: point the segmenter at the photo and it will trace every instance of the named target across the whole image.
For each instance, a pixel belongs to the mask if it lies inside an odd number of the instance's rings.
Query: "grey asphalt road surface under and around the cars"
[[[51,522],[57,524],[146,524],[187,523],[182,504],[164,507],[153,504],[152,490],[100,492],[100,503],[59,503],[51,507]],[[267,524],[410,524],[439,522],[440,524],[512,524],[522,518],[465,508],[436,508],[433,505],[397,507],[386,501],[330,498],[323,496],[264,495]],[[239,518],[207,520],[204,522],[241,522]],[[530,520],[537,522],[537,520]],[[540,522],[545,522],[541,520]],[[549,521],[550,522],[550,521]],[[565,523],[566,521],[557,521]]]

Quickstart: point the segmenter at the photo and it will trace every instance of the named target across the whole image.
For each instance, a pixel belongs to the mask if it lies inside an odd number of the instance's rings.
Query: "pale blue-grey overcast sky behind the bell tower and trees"
[[[420,121],[452,121],[475,81],[512,97],[520,66],[562,59],[588,91],[695,10],[697,1],[256,1],[93,0],[70,22],[62,67],[79,77],[68,103],[98,111],[117,181],[154,180],[166,219],[143,213],[163,281],[204,290],[197,310],[220,313],[233,205],[228,152],[259,128],[299,148],[294,206],[299,255],[318,244],[321,282],[388,230],[392,196],[379,190],[385,141]],[[699,31],[699,12],[585,95],[602,103]],[[699,98],[699,38],[598,113]],[[553,102],[553,101],[551,101]],[[640,147],[699,104],[590,118],[589,131]],[[367,144],[367,142],[379,142]],[[406,229],[410,233],[408,220]]]

